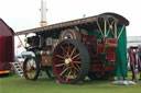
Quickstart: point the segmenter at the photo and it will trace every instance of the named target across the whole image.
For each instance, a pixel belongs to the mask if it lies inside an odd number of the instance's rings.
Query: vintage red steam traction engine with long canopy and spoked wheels
[[[24,61],[25,79],[36,80],[41,70],[67,84],[77,83],[86,75],[91,80],[113,77],[118,27],[127,25],[123,16],[104,13],[15,33],[35,34],[26,37],[24,46],[34,54]]]

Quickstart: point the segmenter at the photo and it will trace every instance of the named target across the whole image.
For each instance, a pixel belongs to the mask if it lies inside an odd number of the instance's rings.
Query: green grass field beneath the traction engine
[[[10,75],[0,78],[0,93],[141,93],[141,80],[135,85],[112,85],[111,82],[87,79],[83,85],[69,85],[48,78],[28,81]]]

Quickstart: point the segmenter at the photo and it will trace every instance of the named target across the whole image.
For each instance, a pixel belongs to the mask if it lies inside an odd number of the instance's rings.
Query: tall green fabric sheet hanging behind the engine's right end
[[[118,47],[116,50],[116,77],[127,77],[127,33],[126,27],[118,27],[118,35],[120,35],[118,39]],[[121,34],[120,34],[121,33]]]

